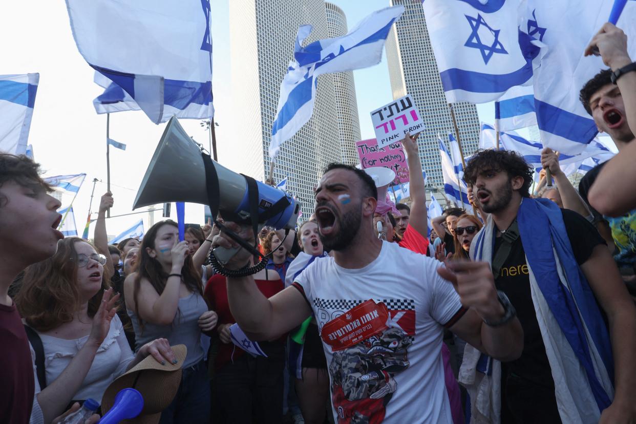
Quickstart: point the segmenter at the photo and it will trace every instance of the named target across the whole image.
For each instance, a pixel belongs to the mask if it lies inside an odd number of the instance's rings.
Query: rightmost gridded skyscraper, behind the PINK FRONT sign
[[[448,142],[448,132],[455,131],[426,29],[424,10],[420,1],[389,1],[391,6],[404,6],[404,14],[389,32],[385,44],[393,99],[406,94],[413,97],[426,125],[418,139],[422,167],[426,170],[428,184],[441,186],[438,134]],[[469,156],[479,146],[477,108],[474,104],[457,103],[453,104],[453,109],[462,151],[464,156]]]

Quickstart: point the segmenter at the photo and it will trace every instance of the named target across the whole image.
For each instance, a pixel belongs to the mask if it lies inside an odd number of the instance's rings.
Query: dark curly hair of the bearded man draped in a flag
[[[506,171],[509,178],[522,177],[523,186],[519,189],[519,194],[523,197],[530,197],[534,169],[515,151],[478,150],[466,165],[464,181],[467,184],[474,184],[477,176],[485,171]]]

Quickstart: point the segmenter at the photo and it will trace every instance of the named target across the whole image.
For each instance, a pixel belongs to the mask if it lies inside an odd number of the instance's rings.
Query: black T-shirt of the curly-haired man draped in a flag
[[[605,240],[598,234],[597,229],[581,215],[567,209],[562,209],[561,212],[574,257],[576,262],[581,265],[591,256],[594,247],[605,244]],[[495,252],[501,245],[501,240],[501,237],[495,240]],[[546,356],[546,348],[543,344],[543,338],[541,338],[530,294],[529,270],[521,238],[513,243],[508,259],[501,266],[499,276],[495,277],[495,285],[498,290],[506,293],[510,302],[515,306],[517,317],[523,327],[523,353],[519,359],[506,364],[506,373],[516,374],[524,380],[553,390],[554,382],[550,363]]]

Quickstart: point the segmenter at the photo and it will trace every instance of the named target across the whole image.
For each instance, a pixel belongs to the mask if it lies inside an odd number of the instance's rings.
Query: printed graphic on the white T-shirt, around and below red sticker
[[[352,315],[352,311],[343,316]],[[415,335],[415,311],[388,311],[387,315],[383,331],[333,352],[329,373],[338,424],[381,423],[387,404],[397,391],[394,375],[410,365],[408,347]],[[329,324],[322,328],[323,339]]]

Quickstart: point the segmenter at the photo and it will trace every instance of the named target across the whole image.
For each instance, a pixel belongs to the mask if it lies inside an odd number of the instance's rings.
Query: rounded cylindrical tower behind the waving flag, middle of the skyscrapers
[[[325,3],[327,31],[329,38],[347,34],[347,17],[341,8],[333,3]],[[353,72],[332,74],[336,95],[338,133],[340,133],[340,154],[342,162],[357,165],[360,158],[356,151],[356,141],[360,140],[360,120],[357,111],[356,85]]]

